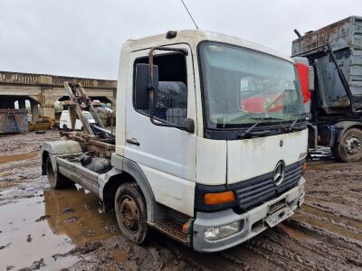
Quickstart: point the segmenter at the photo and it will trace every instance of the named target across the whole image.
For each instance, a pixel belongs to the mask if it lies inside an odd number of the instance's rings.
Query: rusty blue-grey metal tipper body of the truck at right
[[[352,102],[362,105],[362,17],[351,16],[311,31],[292,42],[291,54],[305,56],[317,70],[321,100],[319,107],[348,107],[346,87],[338,77],[326,44],[329,43],[347,80]],[[326,110],[328,111],[328,110]]]

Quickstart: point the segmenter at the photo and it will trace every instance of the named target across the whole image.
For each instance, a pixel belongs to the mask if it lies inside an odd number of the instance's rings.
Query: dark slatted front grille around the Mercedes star
[[[242,182],[235,189],[240,208],[242,210],[251,209],[281,194],[281,192],[291,189],[303,175],[303,164],[304,161],[300,161],[286,166],[284,179],[278,186],[272,180],[274,173],[267,173]]]

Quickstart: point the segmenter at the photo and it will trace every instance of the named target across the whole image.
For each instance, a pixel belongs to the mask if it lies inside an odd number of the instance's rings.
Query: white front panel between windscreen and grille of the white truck
[[[283,141],[282,147],[280,146]],[[308,130],[283,135],[227,142],[227,183],[241,182],[271,173],[283,160],[286,165],[304,158]],[[300,154],[304,155],[300,157]]]

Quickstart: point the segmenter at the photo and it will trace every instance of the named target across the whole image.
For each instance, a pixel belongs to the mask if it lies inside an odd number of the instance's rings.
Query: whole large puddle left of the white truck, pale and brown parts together
[[[71,249],[119,233],[113,213],[100,207],[96,196],[75,186],[0,206],[0,269],[17,270],[42,258],[44,269],[72,266],[79,258],[67,254]],[[113,257],[123,262],[127,255],[119,250]]]

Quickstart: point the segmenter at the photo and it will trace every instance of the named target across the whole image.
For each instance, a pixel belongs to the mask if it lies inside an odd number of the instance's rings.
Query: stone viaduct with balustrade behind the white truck
[[[54,102],[67,100],[64,81],[81,83],[90,98],[116,106],[117,81],[0,71],[0,108],[25,108],[29,100],[34,118],[54,117]]]

